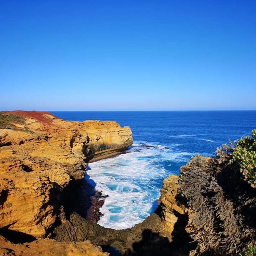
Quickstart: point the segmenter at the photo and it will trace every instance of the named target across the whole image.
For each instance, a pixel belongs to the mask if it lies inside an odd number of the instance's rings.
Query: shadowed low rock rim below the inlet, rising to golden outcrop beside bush
[[[114,251],[115,255],[174,255],[172,253],[179,250],[180,244],[183,246],[188,240],[184,206],[176,201],[178,187],[178,176],[171,175],[164,180],[159,207],[132,228],[104,228],[73,212],[69,220],[63,218],[62,224],[55,228],[55,239],[61,242],[89,239],[109,252]],[[175,225],[178,233],[174,230]]]

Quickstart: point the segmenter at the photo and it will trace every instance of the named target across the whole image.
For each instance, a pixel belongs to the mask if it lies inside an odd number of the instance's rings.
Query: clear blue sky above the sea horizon
[[[2,0],[0,110],[255,110],[255,0]]]

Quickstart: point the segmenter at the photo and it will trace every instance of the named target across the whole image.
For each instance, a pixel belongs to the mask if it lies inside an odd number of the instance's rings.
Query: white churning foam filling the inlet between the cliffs
[[[122,229],[142,222],[155,210],[162,180],[170,174],[160,162],[182,162],[188,156],[191,153],[137,142],[127,154],[90,163],[87,174],[96,183],[96,190],[108,195],[98,224]]]

